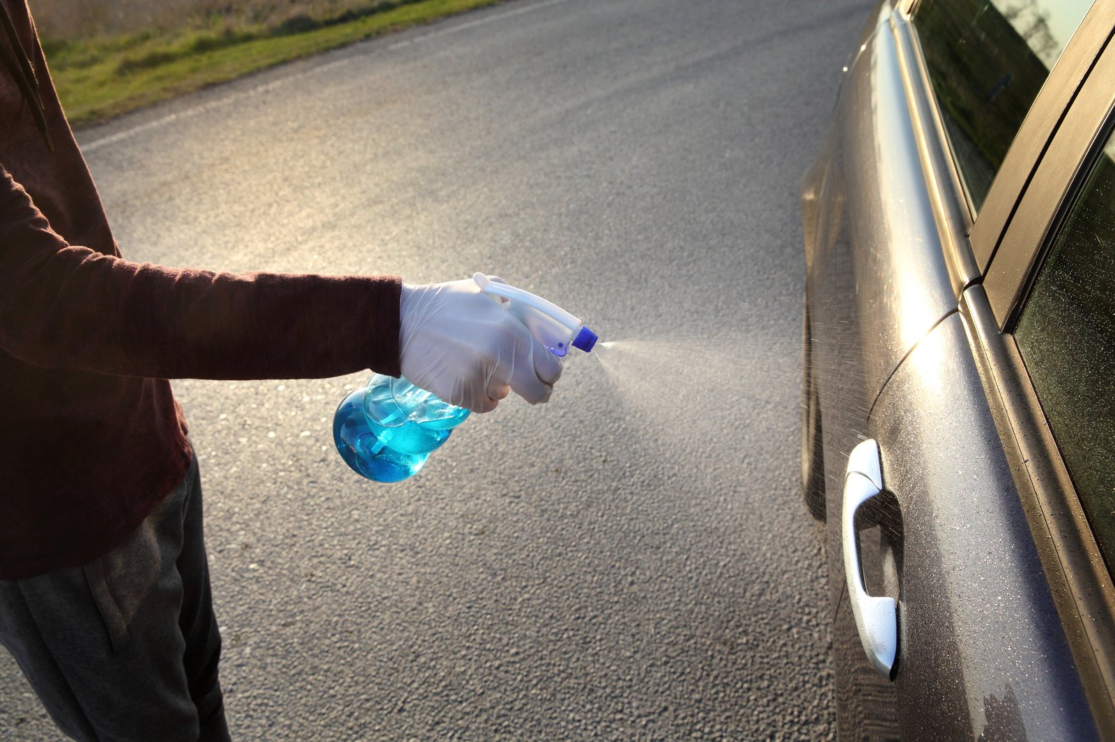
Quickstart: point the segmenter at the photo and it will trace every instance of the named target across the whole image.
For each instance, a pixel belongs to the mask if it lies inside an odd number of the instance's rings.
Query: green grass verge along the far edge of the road
[[[245,25],[214,18],[200,27],[88,40],[42,39],[70,124],[113,116],[205,86],[361,39],[427,23],[502,0],[403,0],[332,18],[295,16]]]

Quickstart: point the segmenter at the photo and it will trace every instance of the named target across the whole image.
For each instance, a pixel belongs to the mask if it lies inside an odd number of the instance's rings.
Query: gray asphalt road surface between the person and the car
[[[673,343],[394,486],[332,450],[367,374],[176,381],[236,738],[833,736],[796,187],[870,6],[517,0],[80,133],[126,257],[483,270]],[[4,653],[0,738],[58,739]]]

